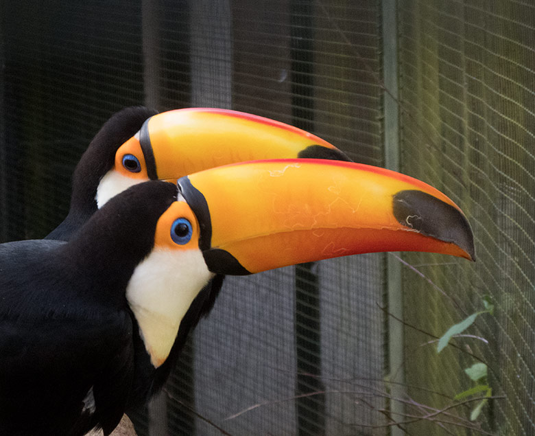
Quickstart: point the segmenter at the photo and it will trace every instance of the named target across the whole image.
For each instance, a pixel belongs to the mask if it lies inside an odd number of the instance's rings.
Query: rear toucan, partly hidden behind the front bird
[[[296,157],[350,160],[305,130],[249,113],[126,108],[102,126],[82,155],[73,174],[69,214],[45,239],[69,240],[98,207],[136,183],[176,183],[228,163]]]

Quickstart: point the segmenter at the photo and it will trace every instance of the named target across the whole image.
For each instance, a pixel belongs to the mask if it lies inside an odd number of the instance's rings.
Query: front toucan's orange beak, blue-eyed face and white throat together
[[[409,176],[315,159],[226,165],[178,180],[176,200],[157,220],[154,247],[136,267],[127,299],[158,367],[214,274],[377,251],[475,257],[459,207]]]

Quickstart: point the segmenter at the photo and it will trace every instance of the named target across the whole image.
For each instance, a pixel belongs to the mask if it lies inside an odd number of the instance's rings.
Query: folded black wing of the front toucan
[[[130,314],[84,300],[55,262],[60,244],[0,246],[1,435],[110,433],[128,401]]]

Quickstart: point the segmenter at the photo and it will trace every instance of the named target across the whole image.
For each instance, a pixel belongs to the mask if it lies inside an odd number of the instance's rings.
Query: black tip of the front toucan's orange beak
[[[400,191],[392,201],[401,225],[425,236],[456,244],[475,261],[474,236],[466,217],[455,207],[418,190]]]

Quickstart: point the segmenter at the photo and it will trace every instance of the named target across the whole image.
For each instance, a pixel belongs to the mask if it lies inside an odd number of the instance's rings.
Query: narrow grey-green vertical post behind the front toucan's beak
[[[383,0],[383,80],[385,120],[385,166],[399,171],[399,106],[398,106],[398,23],[397,1]],[[388,366],[390,370],[390,413],[393,420],[402,420],[405,408],[396,399],[405,395],[403,368],[403,295],[401,286],[401,263],[393,256],[386,256],[386,287],[388,312]],[[396,319],[394,319],[396,317]],[[392,426],[391,435],[401,436],[401,428]]]

